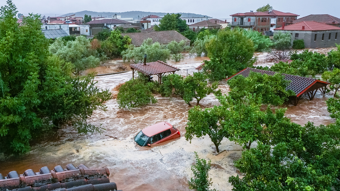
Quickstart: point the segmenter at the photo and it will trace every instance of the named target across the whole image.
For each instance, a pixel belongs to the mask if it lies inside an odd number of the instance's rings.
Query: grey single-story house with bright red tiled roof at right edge
[[[340,44],[340,28],[316,21],[301,21],[274,29],[277,32],[290,33],[294,40],[303,39],[306,48],[329,48]]]

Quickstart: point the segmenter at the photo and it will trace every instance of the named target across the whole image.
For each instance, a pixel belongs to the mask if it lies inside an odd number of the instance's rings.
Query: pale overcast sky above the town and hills
[[[304,17],[310,14],[329,14],[340,18],[340,0],[12,0],[19,13],[38,13],[46,16],[63,15],[79,11],[95,12],[125,12],[146,11],[164,13],[195,13],[208,15],[214,18],[229,18],[231,14],[249,12],[269,3],[273,9],[290,12]],[[6,0],[0,0],[0,5]]]

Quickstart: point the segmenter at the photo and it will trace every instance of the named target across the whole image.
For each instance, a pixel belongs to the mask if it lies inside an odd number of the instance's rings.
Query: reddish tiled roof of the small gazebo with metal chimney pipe
[[[154,74],[160,74],[160,73],[166,73],[166,72],[175,72],[175,71],[180,70],[174,66],[171,66],[159,60],[157,62],[146,63],[146,65],[144,65],[143,63],[130,64],[130,67],[137,71],[140,71],[141,73],[145,75],[154,75]]]

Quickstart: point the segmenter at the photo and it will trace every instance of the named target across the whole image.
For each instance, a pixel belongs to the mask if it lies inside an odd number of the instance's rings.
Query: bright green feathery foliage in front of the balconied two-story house
[[[274,45],[269,36],[262,35],[257,31],[243,30],[243,34],[247,38],[252,39],[255,52],[262,52],[266,49],[271,48]]]

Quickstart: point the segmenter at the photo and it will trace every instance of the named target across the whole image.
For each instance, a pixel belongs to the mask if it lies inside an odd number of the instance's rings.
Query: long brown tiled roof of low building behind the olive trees
[[[176,42],[180,42],[181,40],[185,40],[187,43],[190,42],[188,38],[183,36],[181,33],[177,31],[155,31],[155,32],[147,32],[147,33],[122,33],[122,36],[128,35],[132,41],[131,43],[136,47],[143,44],[145,39],[151,38],[152,43],[159,42],[159,44],[167,45],[171,41],[175,40]]]

